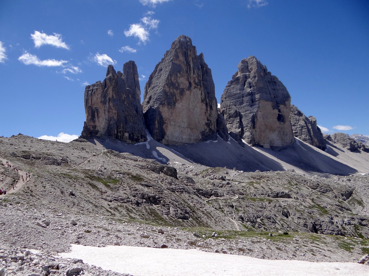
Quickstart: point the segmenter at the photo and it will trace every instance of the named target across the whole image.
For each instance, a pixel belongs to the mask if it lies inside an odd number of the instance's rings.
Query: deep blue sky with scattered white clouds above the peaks
[[[218,103],[253,55],[324,132],[369,135],[366,0],[2,0],[0,26],[0,135],[80,135],[86,84],[134,60],[142,96],[181,34],[204,53]]]

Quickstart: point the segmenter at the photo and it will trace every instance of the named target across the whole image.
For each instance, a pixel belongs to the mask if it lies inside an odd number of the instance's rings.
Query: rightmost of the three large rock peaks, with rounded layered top
[[[291,97],[279,79],[254,56],[243,59],[220,99],[230,136],[265,148],[290,145]]]

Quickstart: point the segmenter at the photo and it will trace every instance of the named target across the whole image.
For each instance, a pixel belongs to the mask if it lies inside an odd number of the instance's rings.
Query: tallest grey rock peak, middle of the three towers
[[[165,145],[216,139],[217,99],[211,70],[181,35],[150,75],[143,111],[152,137]]]

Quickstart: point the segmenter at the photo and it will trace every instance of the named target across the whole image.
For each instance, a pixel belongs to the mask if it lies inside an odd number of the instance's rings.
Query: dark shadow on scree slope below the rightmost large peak
[[[358,172],[353,167],[340,162],[334,157],[332,158],[328,153],[308,145],[297,138],[295,138],[295,142],[292,145],[279,151],[259,147],[258,149],[306,172],[338,175],[349,175]]]

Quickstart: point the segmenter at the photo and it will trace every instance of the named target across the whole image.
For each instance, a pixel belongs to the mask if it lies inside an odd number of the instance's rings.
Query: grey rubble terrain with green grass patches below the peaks
[[[120,275],[58,258],[71,243],[329,262],[369,254],[368,175],[162,164],[127,146],[0,138],[0,275]]]

